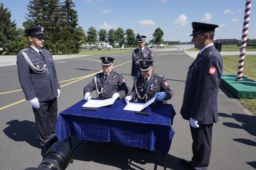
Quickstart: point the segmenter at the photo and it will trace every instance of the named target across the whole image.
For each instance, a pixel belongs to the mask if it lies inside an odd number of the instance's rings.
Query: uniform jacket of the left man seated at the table
[[[95,77],[97,78],[97,89],[100,91],[100,98],[112,98],[112,95],[118,92],[119,99],[124,100],[124,97],[128,93],[128,89],[122,74],[112,71],[110,72],[110,75],[107,77],[106,81],[103,72],[96,74]],[[96,89],[94,79],[95,78],[92,79],[90,84],[85,86],[83,91],[84,96],[85,93],[92,92]]]

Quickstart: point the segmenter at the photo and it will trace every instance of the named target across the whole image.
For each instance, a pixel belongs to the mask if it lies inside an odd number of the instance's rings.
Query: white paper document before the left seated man
[[[84,108],[100,108],[103,106],[109,106],[114,103],[117,98],[108,98],[105,100],[89,100],[82,107]]]

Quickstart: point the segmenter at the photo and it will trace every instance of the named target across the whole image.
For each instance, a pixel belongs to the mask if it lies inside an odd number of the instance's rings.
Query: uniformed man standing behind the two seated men
[[[141,75],[139,62],[144,60],[153,60],[151,50],[145,47],[146,35],[137,35],[136,37],[138,48],[132,52],[132,79]]]

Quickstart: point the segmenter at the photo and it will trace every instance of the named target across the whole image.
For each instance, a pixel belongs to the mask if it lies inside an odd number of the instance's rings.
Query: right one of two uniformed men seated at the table
[[[153,60],[141,61],[141,76],[134,79],[134,86],[125,101],[146,102],[156,96],[158,101],[169,100],[173,95],[168,82],[161,74],[153,72]]]

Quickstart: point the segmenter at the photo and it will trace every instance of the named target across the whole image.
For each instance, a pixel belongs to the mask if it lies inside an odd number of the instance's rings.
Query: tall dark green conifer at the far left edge
[[[18,30],[15,21],[11,21],[11,12],[0,4],[0,54],[15,55],[20,49],[18,46]]]

